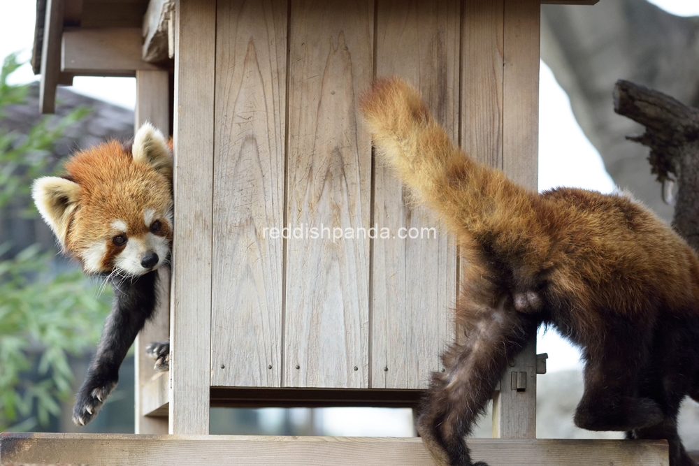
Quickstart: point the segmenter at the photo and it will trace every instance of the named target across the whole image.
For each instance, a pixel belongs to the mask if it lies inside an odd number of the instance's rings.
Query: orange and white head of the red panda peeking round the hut
[[[32,196],[86,273],[136,277],[168,259],[173,161],[157,129],[146,123],[130,151],[110,141],[74,154],[65,168],[62,177],[36,180]]]

